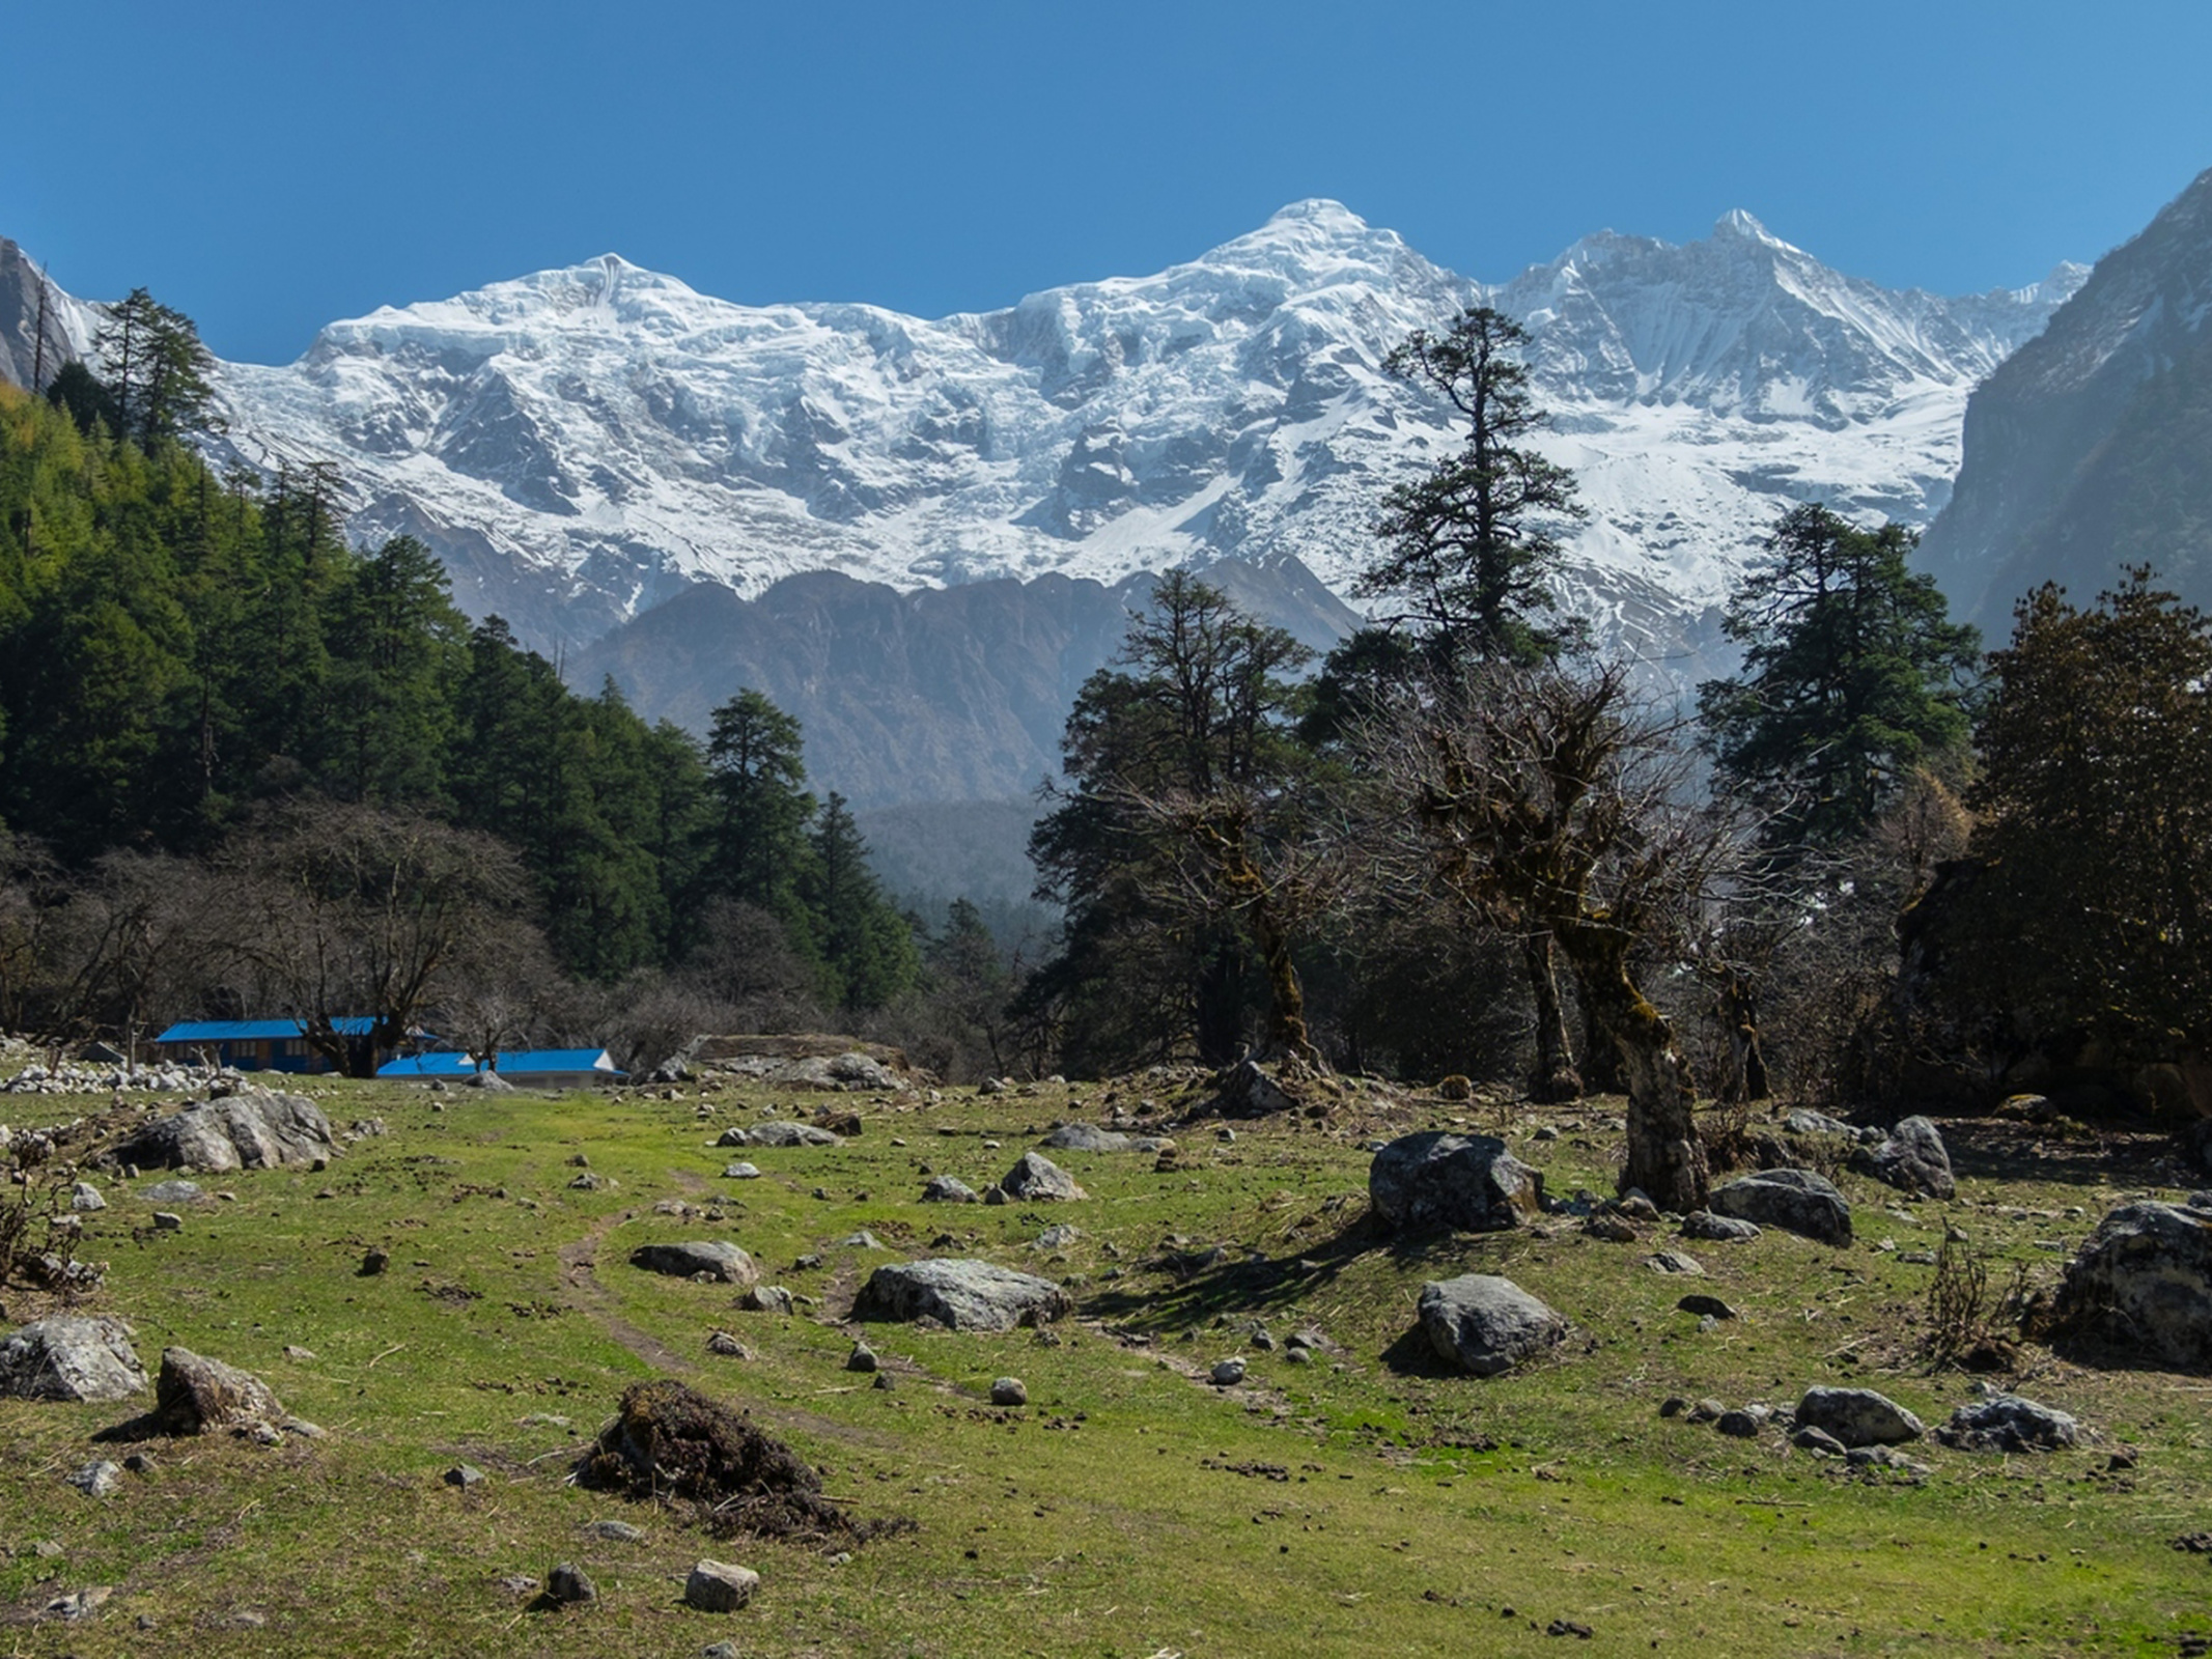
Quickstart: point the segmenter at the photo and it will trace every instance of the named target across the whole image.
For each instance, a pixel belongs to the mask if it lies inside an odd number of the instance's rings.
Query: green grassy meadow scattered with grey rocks
[[[2026,1349],[2020,1389],[2101,1440],[2048,1458],[1916,1447],[1924,1484],[1847,1478],[1778,1431],[1723,1440],[1657,1416],[1668,1394],[1792,1405],[1809,1383],[1865,1383],[1944,1418],[1971,1378],[1922,1358],[1931,1270],[1900,1254],[1958,1223],[1993,1281],[2011,1261],[2051,1279],[2064,1256],[2039,1241],[2070,1245],[2121,1190],[2150,1186],[2141,1148],[1993,1141],[1960,1159],[1958,1201],[1898,1206],[1909,1219],[1845,1177],[1860,1212],[1849,1250],[1774,1232],[1681,1245],[1659,1228],[1610,1245],[1557,1223],[1405,1245],[1367,1230],[1365,1141],[1471,1113],[1495,1128],[1495,1115],[1369,1102],[1340,1121],[1241,1124],[1234,1141],[1197,1126],[1172,1172],[1144,1155],[1055,1155],[1088,1201],[956,1208],[916,1201],[925,1170],[982,1188],[1051,1121],[1097,1117],[1099,1091],[860,1104],[867,1130],[847,1146],[745,1152],[708,1141],[812,1102],[728,1091],[701,1117],[684,1093],[325,1086],[334,1121],[376,1113],[389,1135],[325,1172],[206,1179],[234,1201],[192,1208],[181,1234],[150,1232],[133,1183],[106,1183],[111,1208],[77,1250],[111,1263],[88,1307],[133,1321],[148,1369],[166,1343],[243,1365],[330,1438],[153,1442],[155,1473],[93,1502],[62,1475],[131,1409],[0,1402],[9,1650],[1980,1655],[2170,1652],[2212,1626],[2212,1566],[2168,1546],[2203,1524],[2212,1491],[2201,1378]],[[1553,1115],[1557,1141],[1528,1141],[1537,1121],[1513,1126],[1515,1148],[1555,1192],[1610,1186],[1619,1135],[1601,1106]],[[580,1152],[611,1188],[568,1186]],[[719,1179],[732,1157],[763,1179]],[[1060,1221],[1079,1237],[1037,1250]],[[891,1250],[836,1243],[860,1228]],[[679,1237],[732,1239],[810,1301],[790,1318],[745,1314],[728,1287],[628,1267],[637,1243]],[[1186,1279],[1170,1241],[1225,1259]],[[372,1245],[392,1265],[361,1276]],[[1710,1279],[1641,1265],[1661,1245],[1688,1248]],[[810,1254],[821,1265],[799,1267]],[[867,1387],[843,1369],[858,1334],[843,1314],[872,1265],[907,1254],[1060,1276],[1077,1316],[1011,1336],[869,1327],[896,1389]],[[1471,1270],[1568,1314],[1562,1356],[1473,1380],[1409,1340],[1422,1281]],[[1674,1312],[1688,1287],[1743,1318],[1699,1334]],[[9,1298],[11,1321],[38,1312]],[[1276,1338],[1314,1325],[1332,1347],[1292,1365],[1254,1321]],[[757,1358],[710,1356],[717,1327]],[[1250,1376],[1219,1391],[1203,1376],[1228,1354]],[[856,1515],[916,1531],[841,1562],[714,1542],[573,1486],[615,1398],[657,1374],[752,1411]],[[1002,1374],[1024,1378],[1026,1409],[989,1405]],[[2108,1469],[2124,1444],[2139,1464]],[[445,1484],[456,1462],[489,1480]],[[588,1537],[599,1517],[646,1540]],[[754,1566],[754,1606],[684,1608],[701,1555]],[[595,1606],[540,1610],[502,1586],[542,1584],[562,1559],[595,1577]],[[82,1621],[44,1617],[84,1586],[115,1595]],[[1593,1637],[1544,1635],[1555,1619]]]

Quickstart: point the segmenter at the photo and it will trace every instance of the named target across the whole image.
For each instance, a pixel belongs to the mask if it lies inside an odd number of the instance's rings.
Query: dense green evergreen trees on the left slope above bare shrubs
[[[927,942],[889,902],[765,697],[730,699],[701,741],[613,681],[568,690],[500,617],[471,626],[418,540],[347,549],[332,469],[217,478],[186,442],[208,429],[188,321],[135,294],[102,347],[106,374],[73,363],[44,398],[0,387],[0,823],[42,922],[119,860],[237,880],[327,803],[482,836],[515,880],[480,925],[526,918],[533,967],[582,989],[852,1024],[927,989],[925,945],[969,947],[960,918]],[[40,995],[18,973],[7,1015],[115,1024],[135,1011],[117,973],[58,960]],[[164,1006],[268,995],[173,987]]]

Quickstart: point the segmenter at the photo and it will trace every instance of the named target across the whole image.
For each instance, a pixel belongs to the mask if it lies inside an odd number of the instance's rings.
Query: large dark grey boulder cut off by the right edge
[[[2212,1365],[2212,1210],[2112,1210],[2066,1265],[2057,1316],[2154,1360]]]

